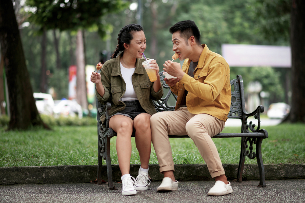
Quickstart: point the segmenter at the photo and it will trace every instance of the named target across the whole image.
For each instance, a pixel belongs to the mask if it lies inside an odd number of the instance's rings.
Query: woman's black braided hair
[[[143,28],[134,23],[134,24],[129,24],[127,26],[124,26],[122,28],[122,30],[120,30],[120,33],[118,34],[118,45],[117,45],[117,48],[116,50],[114,51],[114,53],[112,54],[112,58],[116,58],[117,57],[117,54],[120,52],[120,51],[124,51],[124,43],[126,44],[130,44],[130,41],[133,39],[133,36],[132,36],[132,32],[134,31],[141,31],[143,30]]]

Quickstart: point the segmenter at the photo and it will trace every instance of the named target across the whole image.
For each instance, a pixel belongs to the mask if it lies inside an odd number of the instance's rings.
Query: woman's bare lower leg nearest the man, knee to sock
[[[150,150],[152,143],[152,134],[150,130],[150,119],[151,115],[142,113],[135,117],[135,144],[139,151],[141,167],[143,169],[148,168]]]

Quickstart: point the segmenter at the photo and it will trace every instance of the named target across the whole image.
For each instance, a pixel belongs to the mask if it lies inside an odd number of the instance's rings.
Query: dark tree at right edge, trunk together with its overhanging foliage
[[[291,111],[288,120],[305,122],[305,1],[250,0],[253,17],[258,19],[257,32],[273,42],[290,40],[292,67]]]

